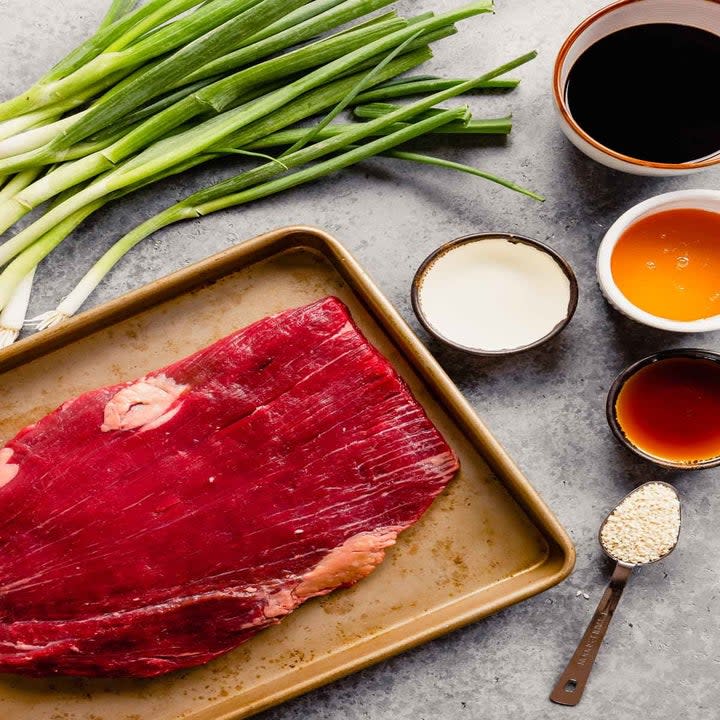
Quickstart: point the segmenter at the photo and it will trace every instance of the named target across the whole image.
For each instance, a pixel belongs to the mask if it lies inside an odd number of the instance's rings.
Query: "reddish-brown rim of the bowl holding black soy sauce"
[[[720,0],[705,1],[720,4]],[[570,49],[573,47],[577,39],[598,20],[612,12],[615,12],[619,8],[625,7],[627,5],[634,5],[635,3],[639,2],[646,2],[646,0],[617,0],[617,2],[606,5],[605,7],[600,8],[599,10],[594,12],[592,15],[586,17],[582,22],[580,22],[579,25],[577,25],[571,31],[571,33],[567,36],[567,38],[561,45],[555,59],[555,67],[553,70],[553,95],[555,97],[555,105],[562,119],[576,135],[582,138],[591,147],[595,148],[595,150],[597,150],[598,152],[601,152],[604,155],[609,155],[610,157],[613,157],[621,162],[629,163],[636,167],[642,168],[653,168],[656,170],[678,170],[685,172],[701,170],[703,168],[709,168],[713,167],[714,165],[718,165],[720,164],[720,148],[718,148],[717,152],[709,158],[683,163],[652,162],[650,160],[640,160],[639,158],[634,158],[631,155],[624,155],[623,153],[619,153],[607,147],[606,145],[603,145],[602,143],[595,140],[595,138],[593,138],[591,135],[588,135],[588,133],[586,133],[585,130],[583,130],[580,125],[578,125],[578,123],[573,118],[572,113],[570,112],[570,108],[568,107],[566,102],[565,88],[561,82],[562,71],[565,66],[565,61],[567,59],[568,53],[570,52]]]

